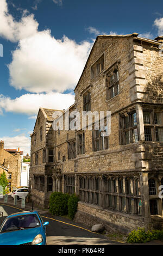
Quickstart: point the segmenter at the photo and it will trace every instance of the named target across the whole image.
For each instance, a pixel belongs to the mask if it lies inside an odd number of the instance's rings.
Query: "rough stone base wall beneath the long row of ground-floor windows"
[[[120,231],[123,234],[128,234],[138,227],[146,227],[142,216],[105,210],[83,202],[78,202],[78,211],[74,221],[83,223],[90,228],[95,224],[103,224],[106,230]]]

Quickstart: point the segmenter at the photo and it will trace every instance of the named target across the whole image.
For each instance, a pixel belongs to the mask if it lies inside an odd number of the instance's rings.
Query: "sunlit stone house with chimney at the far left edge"
[[[10,152],[10,153],[9,153]],[[5,170],[8,179],[8,188],[20,186],[22,158],[20,151],[12,149],[4,149],[4,141],[0,142],[0,174]],[[4,168],[5,167],[5,168]]]

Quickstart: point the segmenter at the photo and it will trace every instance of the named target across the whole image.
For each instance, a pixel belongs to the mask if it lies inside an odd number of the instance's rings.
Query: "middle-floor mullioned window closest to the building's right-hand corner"
[[[139,141],[137,133],[136,112],[126,116],[120,115],[120,144],[130,144]]]

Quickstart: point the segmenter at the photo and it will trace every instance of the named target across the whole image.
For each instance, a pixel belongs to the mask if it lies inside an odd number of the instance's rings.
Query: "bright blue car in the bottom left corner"
[[[46,225],[37,211],[23,211],[5,218],[0,245],[46,245]]]

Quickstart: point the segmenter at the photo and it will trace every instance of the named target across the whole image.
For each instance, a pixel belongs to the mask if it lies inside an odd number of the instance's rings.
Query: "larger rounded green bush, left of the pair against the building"
[[[49,211],[53,215],[67,215],[68,214],[68,198],[70,197],[69,194],[64,194],[62,192],[53,192],[51,194],[49,200]]]

